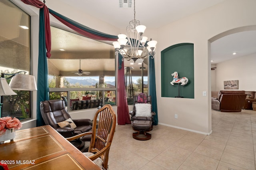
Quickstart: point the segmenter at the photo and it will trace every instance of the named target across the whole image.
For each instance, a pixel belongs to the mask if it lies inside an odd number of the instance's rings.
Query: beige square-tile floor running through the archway
[[[154,126],[148,141],[137,141],[132,133],[131,125],[116,126],[109,170],[255,170],[253,110],[212,110],[211,135],[164,125]]]

